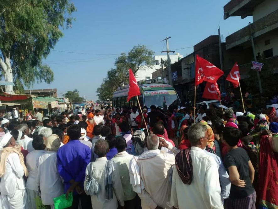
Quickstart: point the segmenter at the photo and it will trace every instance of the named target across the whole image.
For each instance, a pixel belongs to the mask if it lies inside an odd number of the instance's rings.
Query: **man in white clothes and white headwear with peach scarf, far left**
[[[0,138],[0,208],[27,208],[27,193],[23,175],[28,176],[21,152],[14,148],[10,133]]]

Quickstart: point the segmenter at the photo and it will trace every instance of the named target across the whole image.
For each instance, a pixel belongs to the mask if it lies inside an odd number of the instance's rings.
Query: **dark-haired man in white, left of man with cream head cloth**
[[[26,156],[26,166],[29,172],[29,176],[26,183],[29,209],[36,208],[35,198],[39,196],[39,188],[36,179],[38,172],[38,159],[41,155],[45,153],[45,145],[43,142],[44,140],[42,135],[35,136],[34,140],[31,142],[35,150],[30,152]]]

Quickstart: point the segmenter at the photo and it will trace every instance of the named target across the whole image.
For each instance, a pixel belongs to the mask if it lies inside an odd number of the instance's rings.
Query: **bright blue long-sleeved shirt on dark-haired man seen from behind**
[[[71,186],[70,180],[80,182],[83,188],[85,170],[91,159],[91,149],[82,144],[79,140],[69,140],[69,142],[57,151],[57,170],[64,179],[64,192]],[[75,192],[75,190],[74,190]]]

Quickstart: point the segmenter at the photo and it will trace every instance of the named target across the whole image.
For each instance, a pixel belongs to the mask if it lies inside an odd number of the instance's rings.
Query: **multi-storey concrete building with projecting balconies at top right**
[[[226,37],[226,49],[231,69],[238,62],[241,78],[249,75],[251,61],[254,61],[251,36],[254,40],[254,53],[265,68],[277,73],[278,65],[278,1],[277,0],[231,0],[224,6],[224,19],[231,16],[253,16],[253,23]],[[225,56],[225,55],[224,55]]]

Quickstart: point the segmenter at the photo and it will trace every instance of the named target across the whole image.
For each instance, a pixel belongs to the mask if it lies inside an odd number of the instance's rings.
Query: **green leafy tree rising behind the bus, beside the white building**
[[[153,65],[154,53],[145,46],[134,46],[129,52],[122,53],[115,61],[115,68],[107,72],[106,78],[103,79],[101,86],[97,88],[96,93],[99,99],[106,101],[112,99],[113,92],[117,90],[122,83],[128,83],[128,69],[131,68],[134,75],[139,70]],[[144,65],[144,66],[143,66]]]

